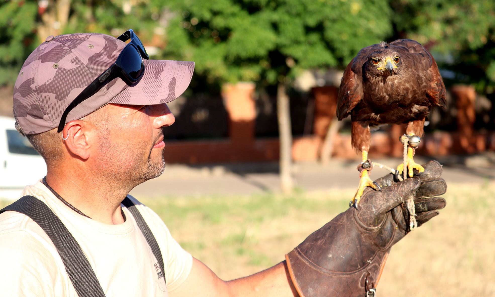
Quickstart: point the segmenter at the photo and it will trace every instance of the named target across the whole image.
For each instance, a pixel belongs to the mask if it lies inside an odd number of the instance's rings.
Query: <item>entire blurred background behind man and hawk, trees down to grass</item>
[[[189,89],[168,103],[171,166],[134,193],[224,278],[280,261],[347,207],[360,155],[349,122],[335,119],[343,69],[363,47],[421,43],[439,65],[447,108],[432,111],[417,155],[445,165],[450,202],[394,249],[379,292],[495,295],[494,1],[0,0],[1,115],[12,117],[19,69],[48,36],[129,28],[151,58],[196,62]],[[404,131],[374,132],[370,158],[395,167]]]

